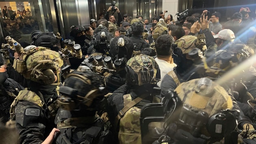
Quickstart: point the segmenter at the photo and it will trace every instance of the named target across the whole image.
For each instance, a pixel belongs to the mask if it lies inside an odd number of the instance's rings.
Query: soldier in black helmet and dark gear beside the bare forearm
[[[60,87],[60,108],[55,122],[60,132],[56,144],[110,144],[112,134],[97,114],[104,102],[104,81],[87,66],[80,66],[65,79]],[[96,114],[96,111],[98,113]]]

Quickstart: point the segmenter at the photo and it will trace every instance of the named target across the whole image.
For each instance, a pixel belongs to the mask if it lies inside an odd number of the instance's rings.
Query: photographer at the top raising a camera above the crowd
[[[109,16],[109,12],[112,11],[112,15]],[[118,20],[117,20],[117,23],[115,21],[115,16],[114,16],[114,13],[117,12],[117,15],[118,15]],[[120,22],[122,21],[122,16],[121,16],[121,13],[119,11],[119,8],[117,8],[115,6],[115,2],[113,2],[112,6],[109,6],[104,18],[111,22],[111,23],[115,23],[117,24],[118,26],[120,26]]]

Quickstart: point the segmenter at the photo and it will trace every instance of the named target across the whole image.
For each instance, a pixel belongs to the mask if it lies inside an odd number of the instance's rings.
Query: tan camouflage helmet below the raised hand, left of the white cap
[[[192,49],[198,48],[201,51],[206,50],[205,42],[201,42],[196,36],[182,36],[174,42],[178,48],[181,49],[183,54],[189,53]]]

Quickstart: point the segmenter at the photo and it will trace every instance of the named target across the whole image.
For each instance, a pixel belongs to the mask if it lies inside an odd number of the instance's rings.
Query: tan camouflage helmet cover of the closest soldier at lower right
[[[190,80],[180,84],[175,91],[183,105],[188,104],[195,110],[203,110],[209,117],[221,110],[233,108],[228,92],[210,78]]]

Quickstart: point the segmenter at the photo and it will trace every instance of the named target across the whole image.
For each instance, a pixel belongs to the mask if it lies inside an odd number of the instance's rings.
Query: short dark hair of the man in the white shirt
[[[172,55],[173,38],[168,34],[163,34],[156,39],[156,55]]]

